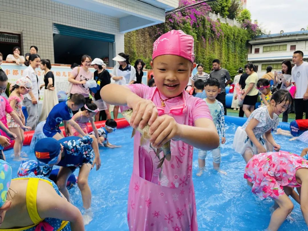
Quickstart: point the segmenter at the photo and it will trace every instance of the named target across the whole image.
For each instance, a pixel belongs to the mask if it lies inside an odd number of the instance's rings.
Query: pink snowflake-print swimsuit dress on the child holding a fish
[[[128,85],[129,89],[144,99],[161,106],[156,87],[142,84]],[[183,96],[165,101],[164,114],[177,123],[194,126],[200,118],[212,119],[205,101],[183,91],[187,110],[182,115],[168,113],[170,107],[179,106]],[[121,107],[121,111],[127,107]],[[147,142],[140,146],[140,133],[134,140],[133,173],[128,191],[127,219],[129,230],[198,230],[196,200],[192,181],[193,146],[183,141],[171,140],[171,160],[157,169],[158,158]]]

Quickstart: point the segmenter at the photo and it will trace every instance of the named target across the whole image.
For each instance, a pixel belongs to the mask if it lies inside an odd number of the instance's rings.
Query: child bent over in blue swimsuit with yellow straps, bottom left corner
[[[43,176],[12,179],[12,168],[0,160],[0,231],[84,230],[77,207],[69,203],[54,182]],[[9,189],[14,193],[8,193]]]

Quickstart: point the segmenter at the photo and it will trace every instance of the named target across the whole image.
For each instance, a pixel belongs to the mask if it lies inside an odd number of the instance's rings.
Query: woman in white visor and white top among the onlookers
[[[129,63],[129,55],[125,53],[119,53],[112,60],[118,62],[112,71],[112,79],[115,80],[116,84],[128,85],[133,84],[137,80],[136,69]],[[119,105],[115,105],[113,108],[114,119],[118,118],[119,107]]]

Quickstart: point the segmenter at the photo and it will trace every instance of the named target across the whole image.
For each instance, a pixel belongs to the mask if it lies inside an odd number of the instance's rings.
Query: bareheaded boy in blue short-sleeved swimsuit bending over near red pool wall
[[[67,123],[71,124],[71,126],[73,126],[82,136],[86,136],[86,133],[83,132],[80,126],[72,120],[72,111],[78,111],[84,106],[85,103],[86,99],[83,95],[74,94],[69,100],[55,105],[47,116],[46,123],[43,127],[43,133],[45,136],[53,137],[56,140],[64,138],[64,134],[59,128],[62,121],[64,123],[65,134],[67,136],[70,134],[67,128]]]

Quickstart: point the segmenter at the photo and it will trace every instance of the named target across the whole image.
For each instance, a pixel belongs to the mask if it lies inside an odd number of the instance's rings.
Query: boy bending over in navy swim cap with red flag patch
[[[89,172],[95,164],[96,171],[100,168],[99,152],[94,152],[93,146],[95,144],[93,142],[94,140],[90,136],[82,138],[68,136],[60,140],[48,137],[39,140],[34,147],[38,164],[43,169],[43,176],[48,177],[54,165],[61,166],[57,176],[57,185],[67,201],[70,201],[66,188],[67,179],[76,168],[79,168],[77,184],[85,209],[91,207],[91,190],[88,185]]]

